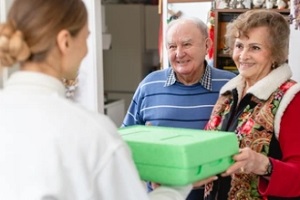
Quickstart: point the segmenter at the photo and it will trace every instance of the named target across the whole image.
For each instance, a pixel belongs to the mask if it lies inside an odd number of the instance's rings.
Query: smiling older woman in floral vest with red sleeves
[[[206,129],[235,132],[240,152],[206,195],[300,199],[300,85],[287,64],[289,33],[275,11],[251,10],[228,25],[239,75],[221,89]]]

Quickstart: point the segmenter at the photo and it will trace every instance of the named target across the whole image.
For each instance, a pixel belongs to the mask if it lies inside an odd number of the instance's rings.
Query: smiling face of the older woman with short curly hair
[[[232,58],[239,73],[254,84],[271,71],[270,35],[267,27],[257,27],[248,36],[236,39]]]

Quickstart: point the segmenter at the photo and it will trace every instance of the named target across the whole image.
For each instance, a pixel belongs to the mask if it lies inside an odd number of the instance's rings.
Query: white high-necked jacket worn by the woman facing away
[[[149,199],[113,123],[64,95],[59,80],[24,71],[0,92],[0,199]],[[184,199],[191,186],[180,189],[150,198]]]

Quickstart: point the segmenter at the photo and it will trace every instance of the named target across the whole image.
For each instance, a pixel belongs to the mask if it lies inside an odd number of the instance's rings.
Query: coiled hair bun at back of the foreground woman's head
[[[11,23],[0,24],[0,66],[11,66],[22,62],[30,55],[30,50],[21,31]]]

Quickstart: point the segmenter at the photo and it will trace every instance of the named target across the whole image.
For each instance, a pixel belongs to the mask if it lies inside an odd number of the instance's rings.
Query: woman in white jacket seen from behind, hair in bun
[[[113,123],[65,98],[88,35],[81,0],[15,0],[0,24],[0,65],[20,63],[0,91],[0,199],[149,199]]]

